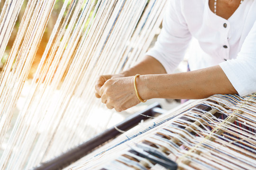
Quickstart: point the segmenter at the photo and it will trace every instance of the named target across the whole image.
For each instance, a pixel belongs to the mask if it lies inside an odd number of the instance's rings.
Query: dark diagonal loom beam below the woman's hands
[[[120,130],[127,131],[130,128],[135,127],[141,120],[149,119],[150,117],[154,117],[156,114],[162,113],[161,110],[154,108],[161,108],[161,106],[159,103],[154,103],[148,106],[146,110],[137,112],[132,116],[128,117],[127,119],[125,119],[124,121],[120,122],[116,125],[116,127],[119,128]],[[116,130],[115,127],[110,127],[109,129],[105,130],[99,135],[94,136],[93,138],[87,140],[82,144],[79,144],[78,146],[55,157],[54,159],[40,163],[33,170],[59,170],[61,168],[64,168],[73,163],[74,161],[77,161],[78,159],[84,157],[88,153],[91,153],[95,148],[97,148],[101,144],[104,144],[105,142],[115,138],[120,134],[121,132]]]

